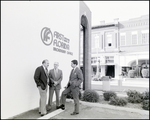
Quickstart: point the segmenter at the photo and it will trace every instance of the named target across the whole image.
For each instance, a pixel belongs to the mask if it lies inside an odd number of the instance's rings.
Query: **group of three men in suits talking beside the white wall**
[[[63,78],[62,70],[58,69],[59,63],[54,63],[54,69],[51,69],[48,73],[49,61],[43,60],[42,66],[35,70],[34,80],[39,89],[40,93],[40,106],[39,113],[41,116],[47,114],[46,110],[46,100],[47,100],[47,86],[49,85],[49,100],[48,100],[48,110],[52,107],[53,94],[56,94],[56,109],[65,109],[66,97],[69,92],[72,92],[75,107],[74,112],[71,115],[79,114],[79,90],[80,85],[83,82],[82,71],[77,67],[78,61],[72,60],[71,67],[73,68],[67,88],[62,92],[61,95],[61,105],[59,106],[59,94],[61,89],[61,81]]]

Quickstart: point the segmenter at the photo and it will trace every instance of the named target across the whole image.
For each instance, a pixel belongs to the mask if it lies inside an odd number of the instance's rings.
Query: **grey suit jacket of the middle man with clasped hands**
[[[58,69],[57,76],[55,76],[54,69],[50,70],[50,72],[49,72],[49,80],[50,80],[49,86],[52,89],[61,89],[62,78],[63,78],[62,70]],[[56,86],[54,86],[54,82],[53,81],[57,81],[58,84]]]

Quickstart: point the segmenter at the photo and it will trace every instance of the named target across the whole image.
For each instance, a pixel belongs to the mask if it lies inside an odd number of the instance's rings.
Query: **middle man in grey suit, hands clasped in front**
[[[52,102],[53,102],[53,94],[55,91],[56,95],[56,109],[58,109],[59,106],[59,94],[61,89],[61,81],[63,78],[62,70],[58,69],[59,63],[54,63],[54,69],[50,70],[49,72],[49,100],[48,100],[48,110],[52,108]]]

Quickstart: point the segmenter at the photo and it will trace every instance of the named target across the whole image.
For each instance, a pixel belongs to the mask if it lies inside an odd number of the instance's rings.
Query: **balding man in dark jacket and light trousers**
[[[47,100],[47,86],[49,82],[48,69],[47,69],[48,66],[49,66],[49,61],[43,60],[42,66],[36,68],[34,74],[34,80],[40,93],[39,113],[41,114],[41,116],[47,114],[46,100]]]

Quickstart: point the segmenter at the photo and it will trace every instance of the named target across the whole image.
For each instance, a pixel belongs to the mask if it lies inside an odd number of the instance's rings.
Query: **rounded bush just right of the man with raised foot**
[[[83,93],[83,101],[98,102],[99,94],[94,90],[85,90]]]

